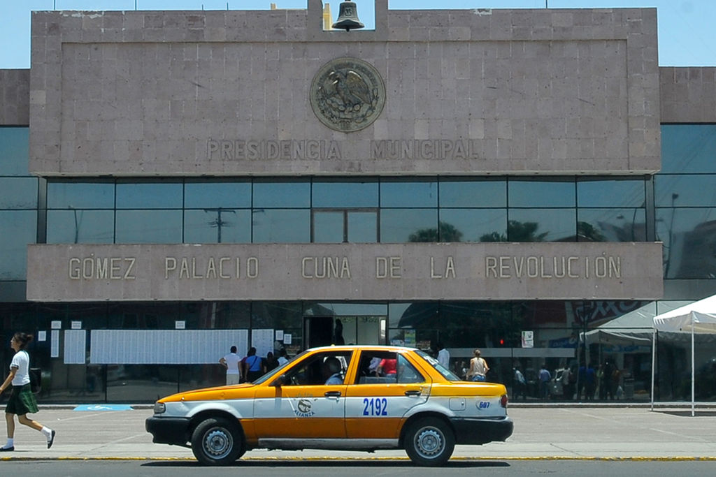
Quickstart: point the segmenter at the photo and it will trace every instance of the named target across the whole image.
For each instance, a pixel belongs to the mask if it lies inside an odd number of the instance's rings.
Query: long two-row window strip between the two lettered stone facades
[[[707,190],[713,179],[716,176],[695,180],[689,195],[693,200],[684,202],[709,204],[710,195],[691,191]],[[412,182],[261,178],[129,183],[122,179],[116,186],[50,181],[47,241],[107,243],[110,237],[118,243],[127,237],[142,243],[164,237],[169,243],[640,241],[648,238],[646,181],[478,177]],[[657,197],[671,187],[669,179],[657,182]],[[23,192],[29,199],[36,191],[23,187]],[[680,197],[677,193],[669,197],[674,195]],[[54,212],[59,209],[77,212]],[[94,214],[97,220],[88,225],[87,210],[96,209],[117,210],[116,217]],[[147,213],[138,212],[142,209]],[[150,210],[171,213],[161,217],[162,213]],[[153,223],[153,217],[162,220]],[[127,224],[131,220],[135,222]],[[120,226],[125,230],[120,231]]]

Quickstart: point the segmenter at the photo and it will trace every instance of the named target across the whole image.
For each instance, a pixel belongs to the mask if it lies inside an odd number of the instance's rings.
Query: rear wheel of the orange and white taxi
[[[405,433],[405,452],[418,466],[442,466],[455,450],[455,435],[440,418],[421,418]]]

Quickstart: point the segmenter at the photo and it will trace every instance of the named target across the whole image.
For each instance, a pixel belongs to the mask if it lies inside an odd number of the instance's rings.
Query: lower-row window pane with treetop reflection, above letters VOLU
[[[510,242],[575,242],[574,209],[511,209]]]

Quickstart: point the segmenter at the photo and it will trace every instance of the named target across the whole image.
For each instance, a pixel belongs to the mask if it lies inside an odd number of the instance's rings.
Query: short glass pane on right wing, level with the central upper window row
[[[657,174],[654,177],[654,205],[716,207],[716,175]]]

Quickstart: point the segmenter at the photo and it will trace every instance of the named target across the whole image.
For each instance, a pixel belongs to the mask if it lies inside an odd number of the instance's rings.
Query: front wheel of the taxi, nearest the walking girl
[[[226,466],[243,456],[244,447],[238,424],[225,418],[205,419],[191,435],[194,457],[206,466]]]

